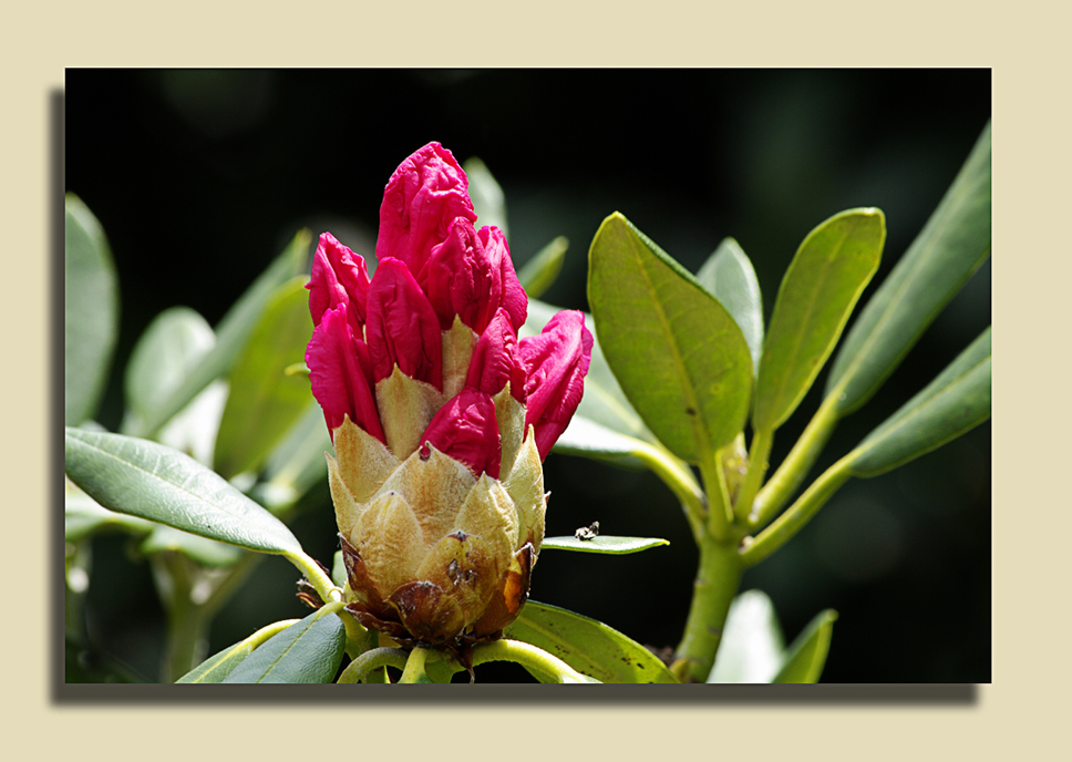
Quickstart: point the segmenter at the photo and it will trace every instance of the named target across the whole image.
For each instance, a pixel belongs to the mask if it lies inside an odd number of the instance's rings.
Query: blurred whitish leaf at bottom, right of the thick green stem
[[[762,590],[742,593],[730,605],[708,682],[771,682],[784,662],[774,604]]]

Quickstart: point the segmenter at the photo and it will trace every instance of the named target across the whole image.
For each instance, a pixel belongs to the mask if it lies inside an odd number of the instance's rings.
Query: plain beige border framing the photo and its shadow
[[[18,758],[450,756],[1053,759],[1068,749],[1063,579],[1068,11],[968,2],[28,3],[6,14],[2,196],[4,746]],[[370,3],[371,4],[371,3]],[[1038,8],[1035,8],[1039,6]],[[1054,3],[1051,8],[1056,9]],[[494,24],[494,25],[493,25]],[[971,706],[677,703],[389,708],[51,703],[44,535],[49,391],[49,93],[65,65],[983,65],[994,68],[993,687]],[[896,107],[896,104],[890,104]],[[1062,182],[1063,181],[1063,182]],[[1058,290],[1060,289],[1060,291]],[[1059,338],[1060,337],[1060,338]],[[1063,353],[1061,353],[1063,356]],[[1063,364],[1063,362],[1062,362]],[[1063,370],[1056,369],[1056,370]],[[1044,405],[1044,406],[1043,406]],[[1052,433],[1051,433],[1052,432]],[[14,488],[12,494],[10,491]],[[1056,511],[1056,508],[1061,508]],[[324,720],[320,719],[326,718]],[[135,751],[136,750],[136,751]],[[207,753],[206,753],[207,752]],[[338,758],[338,756],[337,756]],[[237,756],[235,756],[237,759]]]

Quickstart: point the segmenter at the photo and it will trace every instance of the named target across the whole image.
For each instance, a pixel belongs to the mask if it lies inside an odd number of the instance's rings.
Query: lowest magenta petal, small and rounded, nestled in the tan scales
[[[461,461],[476,476],[498,478],[502,450],[495,403],[476,389],[464,389],[432,418],[422,442]]]

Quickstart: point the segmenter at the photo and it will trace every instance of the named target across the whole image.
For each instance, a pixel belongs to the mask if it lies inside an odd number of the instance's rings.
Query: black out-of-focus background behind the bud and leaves
[[[587,309],[586,254],[620,210],[695,271],[725,236],[751,257],[767,318],[815,225],[878,206],[888,235],[864,303],[934,210],[990,116],[989,70],[69,70],[65,189],[101,220],[122,325],[99,418],[114,430],[131,349],[161,310],[216,323],[299,227],[371,255],[383,186],[435,140],[480,156],[506,194],[520,267],[557,235],[566,266],[543,299]],[[990,323],[985,265],[883,391],[844,421],[820,473],[921,389]],[[825,381],[779,431],[772,463]],[[835,608],[827,682],[991,679],[990,425],[884,476],[853,481],[786,547],[749,570],[787,640]],[[670,492],[648,473],[552,455],[548,535],[605,534],[669,548],[607,557],[548,552],[532,597],[656,647],[680,638],[697,552]],[[327,487],[293,529],[330,564]],[[162,612],[147,564],[94,539],[87,625],[102,653],[155,679]],[[300,617],[295,570],[268,558],[221,614],[210,651]],[[482,668],[482,673],[483,672]],[[503,673],[513,679],[513,672]],[[491,673],[488,673],[491,677]]]

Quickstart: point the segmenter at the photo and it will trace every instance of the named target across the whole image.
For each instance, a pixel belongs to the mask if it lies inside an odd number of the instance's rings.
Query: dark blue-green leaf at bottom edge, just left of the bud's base
[[[332,682],[347,631],[333,614],[313,611],[246,657],[221,682]]]

